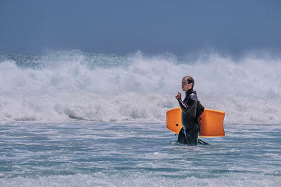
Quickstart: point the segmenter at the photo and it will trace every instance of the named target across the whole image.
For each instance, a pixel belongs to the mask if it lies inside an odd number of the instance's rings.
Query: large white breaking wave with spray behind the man
[[[226,111],[226,123],[281,120],[278,59],[214,54],[191,62],[74,50],[0,60],[1,121],[164,121],[186,75],[204,106]]]

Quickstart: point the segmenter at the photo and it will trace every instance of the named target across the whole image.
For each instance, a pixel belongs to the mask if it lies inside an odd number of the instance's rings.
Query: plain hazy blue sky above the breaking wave
[[[281,1],[1,0],[0,53],[281,51]]]

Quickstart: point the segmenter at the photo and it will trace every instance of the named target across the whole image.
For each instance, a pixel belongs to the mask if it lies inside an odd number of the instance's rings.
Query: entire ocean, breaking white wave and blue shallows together
[[[0,55],[0,186],[280,186],[280,59]],[[183,76],[226,137],[166,129]]]

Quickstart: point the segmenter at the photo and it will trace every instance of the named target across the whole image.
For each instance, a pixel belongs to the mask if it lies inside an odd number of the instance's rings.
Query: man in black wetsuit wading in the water
[[[178,142],[188,144],[188,146],[198,144],[198,135],[200,133],[200,126],[196,118],[198,98],[196,91],[193,90],[194,83],[195,81],[191,76],[183,77],[181,88],[185,91],[185,99],[181,100],[180,92],[176,95],[182,110],[181,123],[183,124],[183,128],[178,134]]]

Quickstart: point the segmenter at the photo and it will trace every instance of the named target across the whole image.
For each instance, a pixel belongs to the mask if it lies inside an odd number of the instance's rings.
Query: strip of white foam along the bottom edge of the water
[[[38,179],[16,177],[0,181],[0,186],[279,186],[280,176],[264,174],[217,174],[206,178],[185,175],[170,177],[148,174],[74,174],[66,176],[40,176]]]

